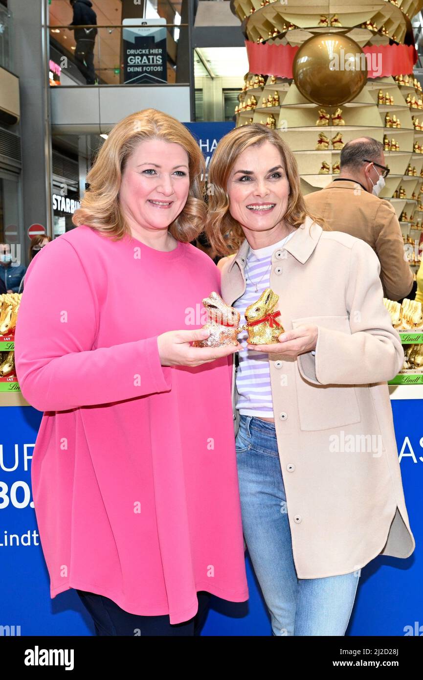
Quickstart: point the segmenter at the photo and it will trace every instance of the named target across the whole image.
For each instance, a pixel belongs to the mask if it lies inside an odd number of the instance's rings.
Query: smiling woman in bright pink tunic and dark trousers
[[[50,596],[75,588],[100,635],[192,635],[207,594],[248,598],[229,355],[190,245],[203,156],[147,109],[119,122],[77,227],[31,262],[16,327],[22,394],[44,411],[32,464]],[[197,593],[199,599],[197,600]],[[197,630],[197,629],[196,629]]]

